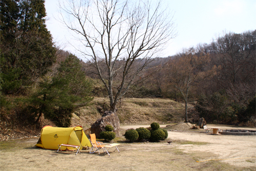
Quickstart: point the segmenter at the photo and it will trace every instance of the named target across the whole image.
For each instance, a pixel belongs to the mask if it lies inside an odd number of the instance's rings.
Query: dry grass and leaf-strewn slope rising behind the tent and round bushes
[[[120,124],[176,123],[183,121],[184,118],[184,105],[170,99],[126,98],[122,99],[117,107]],[[110,109],[108,98],[95,97],[91,105],[73,113],[71,126],[81,125],[86,130],[108,109]],[[0,124],[0,141],[38,136],[42,127],[55,126],[44,117],[39,128],[22,122],[15,115],[5,114],[5,119],[2,119]]]

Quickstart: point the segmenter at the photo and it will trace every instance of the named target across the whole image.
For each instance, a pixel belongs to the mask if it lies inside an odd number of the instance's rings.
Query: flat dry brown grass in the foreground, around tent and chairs
[[[220,161],[196,162],[217,157],[212,153],[184,153],[184,141],[158,143],[125,143],[119,141],[120,153],[89,154],[88,151],[59,152],[34,147],[38,138],[1,142],[1,170],[253,170]],[[189,145],[199,145],[189,142]],[[200,143],[201,146],[206,143]],[[102,152],[102,149],[100,150]]]

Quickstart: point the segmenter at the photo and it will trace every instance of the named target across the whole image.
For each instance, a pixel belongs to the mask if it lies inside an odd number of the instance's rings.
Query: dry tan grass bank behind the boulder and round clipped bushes
[[[109,99],[95,97],[92,105],[81,108],[73,115],[72,126],[81,125],[85,128],[101,117],[100,109],[109,108]],[[118,104],[117,115],[120,124],[160,124],[181,122],[184,105],[170,99],[160,98],[125,98]]]

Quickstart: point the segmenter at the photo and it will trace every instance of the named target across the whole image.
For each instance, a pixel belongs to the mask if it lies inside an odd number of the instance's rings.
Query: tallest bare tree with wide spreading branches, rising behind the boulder
[[[167,41],[176,36],[173,15],[161,1],[75,1],[60,4],[62,22],[80,40],[79,51],[91,63],[108,90],[111,111],[141,77]],[[123,60],[122,65],[116,65]],[[120,64],[120,62],[118,62]],[[106,73],[100,66],[104,65]],[[120,72],[121,71],[121,72]],[[117,73],[121,80],[115,81]],[[114,91],[115,89],[115,91]]]

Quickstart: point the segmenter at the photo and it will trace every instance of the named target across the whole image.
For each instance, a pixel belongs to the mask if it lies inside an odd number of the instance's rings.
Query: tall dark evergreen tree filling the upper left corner
[[[1,1],[2,92],[23,93],[55,60],[44,0]]]

